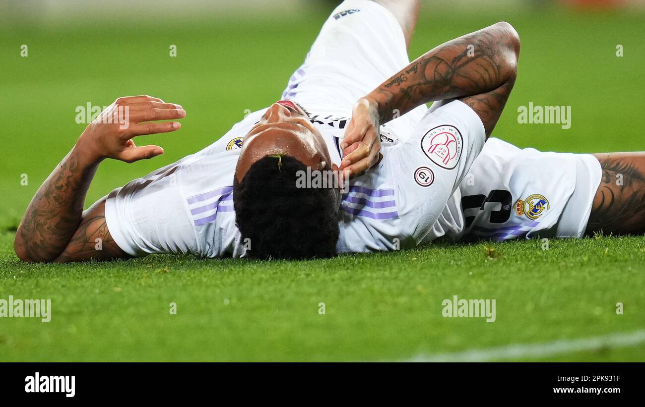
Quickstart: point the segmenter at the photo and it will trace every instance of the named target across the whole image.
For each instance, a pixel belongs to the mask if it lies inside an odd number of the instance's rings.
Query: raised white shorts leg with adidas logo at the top
[[[323,24],[282,97],[308,111],[350,117],[356,100],[408,64],[403,30],[392,13],[370,0],[345,0]],[[425,112],[419,106],[387,126],[412,133]]]

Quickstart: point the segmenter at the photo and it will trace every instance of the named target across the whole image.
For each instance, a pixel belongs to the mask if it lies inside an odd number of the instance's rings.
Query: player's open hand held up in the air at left
[[[163,154],[159,146],[137,147],[135,136],[169,133],[181,128],[179,122],[154,122],[174,120],[186,116],[186,111],[174,103],[166,103],[152,96],[128,96],[115,100],[101,112],[79,138],[77,145],[85,155],[100,161],[114,158],[135,162]]]

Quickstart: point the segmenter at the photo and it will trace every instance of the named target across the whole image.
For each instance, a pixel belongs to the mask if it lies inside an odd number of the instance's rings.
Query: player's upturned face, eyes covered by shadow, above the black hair
[[[332,158],[321,133],[303,108],[290,100],[270,106],[244,137],[235,176],[241,182],[254,162],[267,155],[289,155],[312,170],[332,169]]]

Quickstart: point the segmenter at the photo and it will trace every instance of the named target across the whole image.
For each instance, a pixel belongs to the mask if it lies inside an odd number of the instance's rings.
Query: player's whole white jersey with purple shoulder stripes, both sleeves
[[[105,213],[117,245],[132,256],[243,256],[233,211],[233,175],[241,140],[265,110],[251,113],[202,151],[112,191]],[[348,118],[313,113],[310,120],[332,161],[340,165],[339,144]],[[429,109],[413,137],[398,137],[396,121],[382,130],[383,159],[353,178],[342,196],[339,252],[412,247],[447,229],[461,230],[461,211],[446,202],[484,144],[479,117],[455,100]]]

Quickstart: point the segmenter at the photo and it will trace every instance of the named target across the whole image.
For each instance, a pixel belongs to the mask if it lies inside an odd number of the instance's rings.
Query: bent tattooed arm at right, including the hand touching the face
[[[357,101],[341,144],[345,155],[341,169],[369,167],[378,153],[379,126],[435,100],[460,99],[468,104],[488,137],[515,84],[519,50],[513,26],[497,23],[415,59]]]

